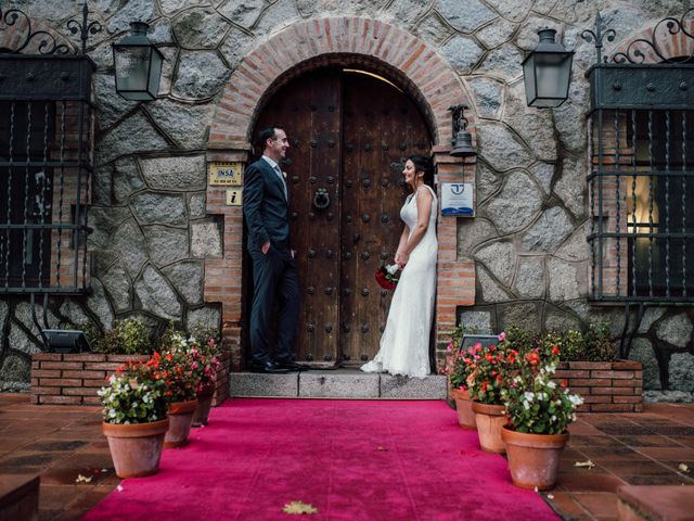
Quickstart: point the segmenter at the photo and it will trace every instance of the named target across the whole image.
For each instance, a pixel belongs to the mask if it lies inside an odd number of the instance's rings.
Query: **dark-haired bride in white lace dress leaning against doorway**
[[[381,348],[364,372],[389,372],[407,377],[429,373],[429,333],[436,291],[436,216],[434,190],[424,182],[432,171],[427,157],[412,155],[404,163],[404,181],[412,189],[400,209],[404,229],[395,254],[402,269],[388,312]]]

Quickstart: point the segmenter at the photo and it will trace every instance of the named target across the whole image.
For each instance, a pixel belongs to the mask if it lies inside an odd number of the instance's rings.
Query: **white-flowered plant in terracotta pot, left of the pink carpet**
[[[164,436],[169,427],[165,384],[141,364],[127,364],[99,391],[103,402],[103,432],[118,478],[140,478],[158,471]]]

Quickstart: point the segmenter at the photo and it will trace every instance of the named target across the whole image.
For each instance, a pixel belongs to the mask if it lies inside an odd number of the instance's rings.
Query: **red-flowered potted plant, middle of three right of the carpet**
[[[474,367],[467,377],[467,385],[473,399],[479,445],[487,453],[503,454],[505,448],[501,428],[506,422],[506,416],[501,391],[509,379],[515,376],[518,352],[501,333],[498,344],[487,347],[475,345],[470,356]]]

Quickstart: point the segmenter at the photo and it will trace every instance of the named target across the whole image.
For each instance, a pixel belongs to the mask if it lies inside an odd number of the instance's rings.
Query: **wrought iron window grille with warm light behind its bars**
[[[616,33],[600,15],[582,34],[597,58],[587,73],[589,298],[625,305],[624,357],[645,306],[694,305],[693,18],[694,9],[666,17],[611,59],[602,47]],[[626,339],[631,306],[637,323]]]

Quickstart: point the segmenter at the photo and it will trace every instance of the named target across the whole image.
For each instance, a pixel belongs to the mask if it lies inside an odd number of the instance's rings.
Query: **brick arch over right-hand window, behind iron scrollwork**
[[[682,28],[684,28],[690,35],[694,35],[694,20],[684,20],[682,22]],[[657,34],[655,33],[657,27]],[[646,40],[650,42],[655,41],[658,46],[660,53],[668,60],[694,56],[694,38],[689,37],[682,30],[671,34],[668,30],[666,23],[656,24],[656,26],[642,29],[638,33],[632,33],[629,37],[621,40],[613,51],[613,56],[617,53],[627,54],[629,52],[629,46],[631,47],[630,58],[633,56],[633,50],[639,49],[644,54],[643,63],[660,63],[660,58],[647,43],[639,43],[637,40]],[[639,60],[634,60],[640,63]]]

